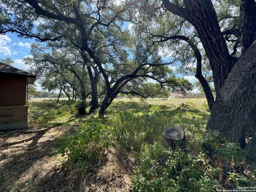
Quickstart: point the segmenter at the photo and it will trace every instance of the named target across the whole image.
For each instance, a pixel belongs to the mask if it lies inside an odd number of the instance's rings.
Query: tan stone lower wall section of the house
[[[28,127],[28,106],[0,106],[0,130]]]

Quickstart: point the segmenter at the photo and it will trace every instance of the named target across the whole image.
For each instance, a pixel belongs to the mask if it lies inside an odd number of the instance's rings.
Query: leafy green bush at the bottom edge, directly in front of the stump
[[[182,150],[170,151],[161,143],[145,145],[141,166],[132,177],[134,191],[215,191],[217,172],[205,154],[191,156]]]

